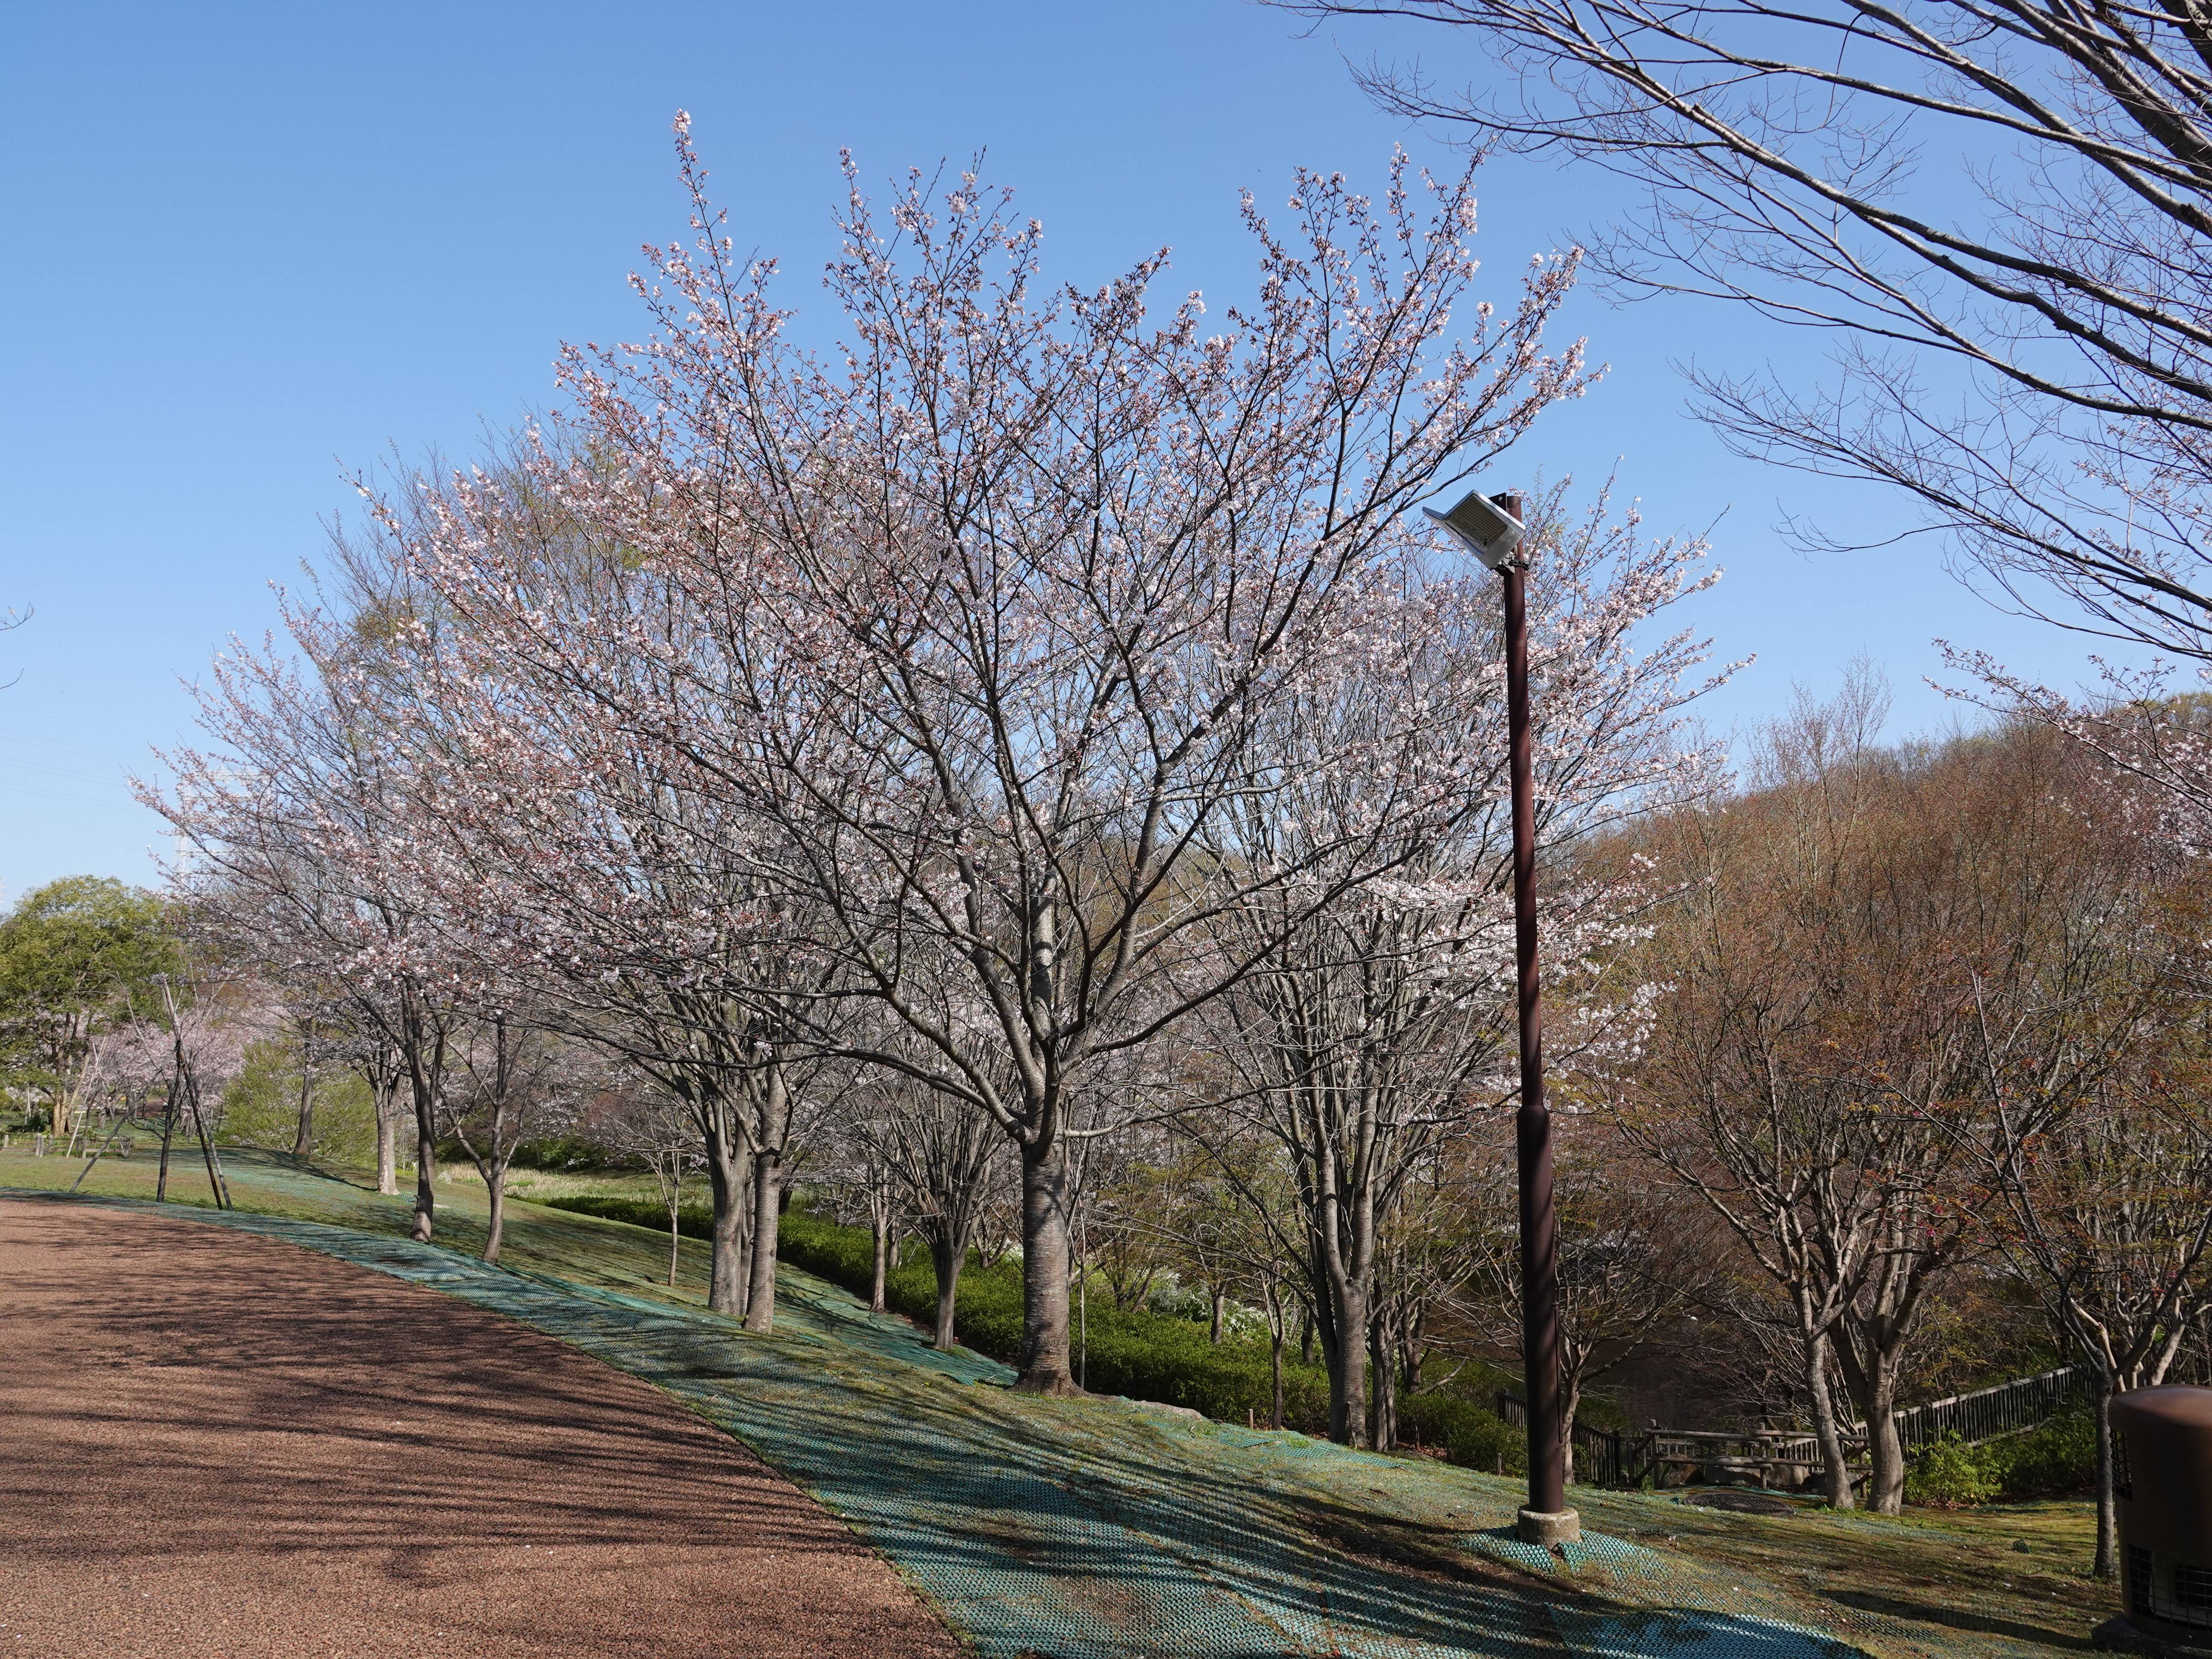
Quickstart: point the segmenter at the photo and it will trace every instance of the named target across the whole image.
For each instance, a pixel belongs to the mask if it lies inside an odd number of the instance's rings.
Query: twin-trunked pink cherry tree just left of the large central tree
[[[708,1303],[765,1332],[836,962],[779,878],[776,823],[699,763],[752,730],[732,721],[714,641],[619,531],[564,504],[553,467],[524,445],[411,480],[338,557],[354,593],[434,595],[387,650],[427,803],[416,867],[467,916],[453,947],[686,1102],[714,1199]],[[597,471],[580,462],[566,484]]]

